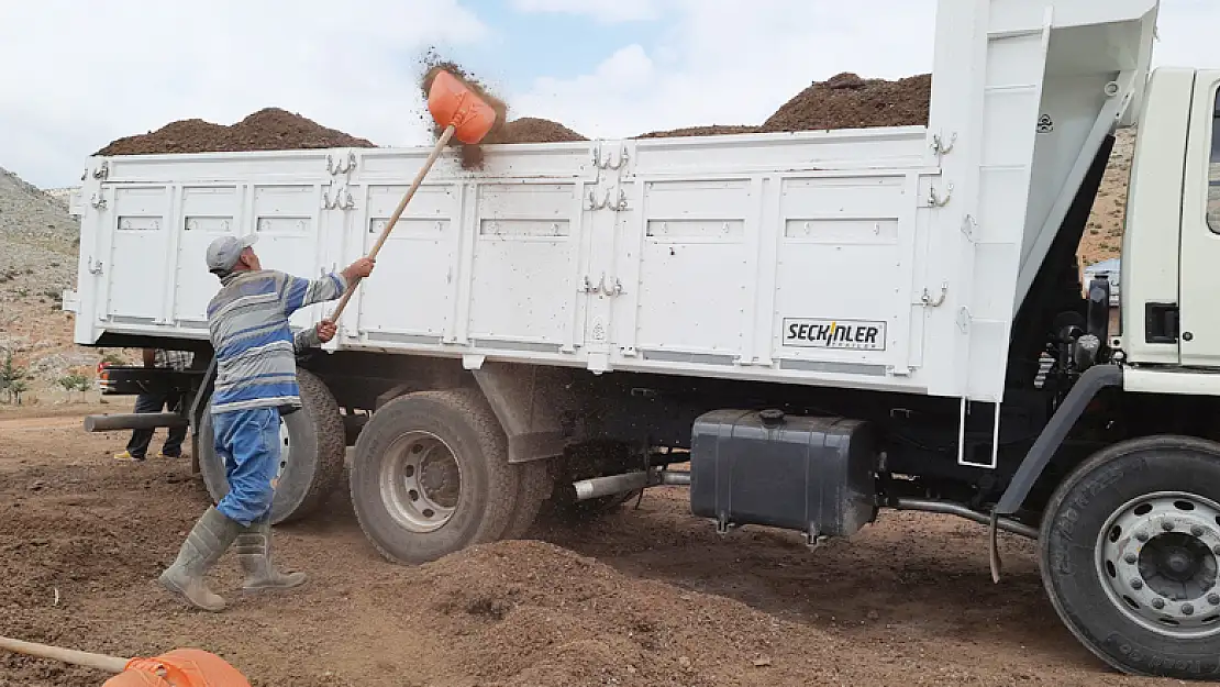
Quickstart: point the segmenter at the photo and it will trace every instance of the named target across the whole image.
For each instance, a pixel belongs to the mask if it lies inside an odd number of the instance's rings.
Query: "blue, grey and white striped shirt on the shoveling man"
[[[221,284],[207,305],[216,350],[212,412],[300,408],[296,353],[321,342],[314,327],[294,337],[288,317],[343,295],[348,287],[343,275],[310,281],[273,270],[243,271],[226,275]]]

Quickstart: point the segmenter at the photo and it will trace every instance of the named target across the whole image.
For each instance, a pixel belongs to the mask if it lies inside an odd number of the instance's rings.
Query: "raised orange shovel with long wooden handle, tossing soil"
[[[437,140],[436,148],[432,149],[432,155],[428,155],[428,160],[423,164],[423,167],[415,174],[411,188],[406,190],[406,195],[399,201],[398,209],[390,216],[389,222],[382,231],[382,236],[373,244],[373,249],[368,251],[370,259],[377,257],[386,239],[389,238],[389,232],[394,229],[394,225],[403,216],[406,204],[411,201],[411,196],[418,190],[423,177],[427,176],[437,157],[440,156],[440,151],[444,150],[449,139],[458,137],[458,140],[467,145],[473,145],[483,140],[483,137],[495,126],[495,110],[467,88],[458,77],[444,70],[437,72],[432,79],[432,85],[428,88],[428,112],[432,113],[432,118],[438,124],[445,127],[445,131],[440,134],[440,139]],[[329,317],[331,322],[339,321],[339,315],[348,306],[348,301],[351,300],[351,294],[355,290],[356,284],[351,284],[343,294],[343,298],[339,299],[339,305],[334,309],[334,314]]]

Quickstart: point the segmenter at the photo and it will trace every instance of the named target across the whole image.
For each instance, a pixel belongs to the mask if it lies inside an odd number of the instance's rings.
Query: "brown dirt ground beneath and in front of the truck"
[[[203,486],[182,461],[115,464],[126,433],[84,433],[88,411],[0,414],[0,633],[117,655],[200,647],[281,687],[1157,683],[1076,643],[1022,541],[1002,538],[993,584],[970,522],[883,514],[810,553],[792,533],[719,537],[678,489],[407,567],[366,543],[343,484],[325,515],[277,528],[305,587],[243,598],[231,552],[212,576],[229,610],[189,611],[152,580]],[[104,680],[0,653],[0,686]]]

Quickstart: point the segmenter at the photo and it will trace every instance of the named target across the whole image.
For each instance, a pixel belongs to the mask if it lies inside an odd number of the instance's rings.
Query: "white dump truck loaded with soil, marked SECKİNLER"
[[[339,482],[416,563],[689,484],[720,531],[810,545],[881,509],[1036,539],[1064,624],[1132,674],[1220,672],[1220,71],[1150,70],[1158,0],[941,0],[928,126],[447,154],[300,360],[277,522]],[[1121,331],[1076,250],[1138,124]],[[320,276],[427,148],[90,157],[76,340],[196,353],[176,384],[214,498],[204,246]],[[1082,295],[1083,294],[1083,295]],[[333,305],[293,317],[307,327]],[[689,465],[688,470],[675,466]],[[732,538],[726,538],[731,545]]]

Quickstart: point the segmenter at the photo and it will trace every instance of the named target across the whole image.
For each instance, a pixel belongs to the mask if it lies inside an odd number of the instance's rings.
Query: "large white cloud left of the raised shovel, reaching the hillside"
[[[0,2],[0,166],[77,183],[110,140],[281,106],[379,144],[427,143],[427,45],[489,34],[458,0]]]

